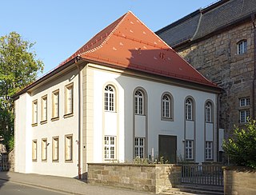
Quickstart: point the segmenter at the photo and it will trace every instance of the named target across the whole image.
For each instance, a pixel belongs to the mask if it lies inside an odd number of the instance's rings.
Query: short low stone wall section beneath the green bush
[[[256,170],[238,166],[225,166],[224,194],[256,194]]]

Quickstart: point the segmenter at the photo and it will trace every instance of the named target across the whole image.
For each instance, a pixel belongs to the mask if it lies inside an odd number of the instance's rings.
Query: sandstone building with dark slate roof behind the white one
[[[255,117],[256,1],[222,0],[156,34],[210,81],[222,87],[219,128]]]

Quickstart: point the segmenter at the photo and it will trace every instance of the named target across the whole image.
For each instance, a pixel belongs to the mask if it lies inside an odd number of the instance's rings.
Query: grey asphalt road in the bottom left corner
[[[67,193],[58,193],[47,189],[31,187],[29,185],[20,185],[11,181],[0,180],[1,195],[63,195]]]

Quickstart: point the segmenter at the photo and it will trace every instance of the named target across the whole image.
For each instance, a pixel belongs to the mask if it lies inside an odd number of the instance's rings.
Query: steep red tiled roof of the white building
[[[130,11],[96,34],[59,66],[76,56],[216,87]]]

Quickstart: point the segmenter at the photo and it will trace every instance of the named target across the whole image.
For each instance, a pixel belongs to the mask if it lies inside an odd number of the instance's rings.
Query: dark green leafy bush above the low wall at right
[[[234,137],[223,144],[230,161],[256,169],[256,121],[248,119],[245,129],[234,129]]]

